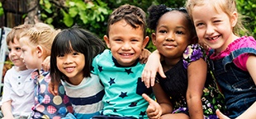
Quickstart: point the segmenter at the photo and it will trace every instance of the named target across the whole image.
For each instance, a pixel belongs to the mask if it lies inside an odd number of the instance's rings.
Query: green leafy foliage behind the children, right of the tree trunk
[[[53,0],[40,0],[41,20],[57,28],[68,28],[80,25],[83,28],[103,38],[107,29],[107,18],[116,7],[129,3],[142,8],[147,12],[151,5],[165,4],[168,7],[184,7],[186,0],[66,0],[64,7],[59,6]],[[237,0],[237,7],[244,18],[244,26],[249,30],[249,35],[256,38],[256,2],[255,0]],[[1,4],[0,4],[1,5]],[[1,6],[0,6],[1,14]],[[147,30],[150,37],[152,31]],[[155,47],[151,41],[147,47],[154,51]]]

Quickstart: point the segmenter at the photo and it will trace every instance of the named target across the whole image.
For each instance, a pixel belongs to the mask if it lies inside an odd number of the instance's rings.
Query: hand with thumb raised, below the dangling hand
[[[155,102],[147,94],[142,94],[142,97],[149,103],[147,108],[147,115],[150,119],[159,119],[162,115],[162,108],[159,103]]]

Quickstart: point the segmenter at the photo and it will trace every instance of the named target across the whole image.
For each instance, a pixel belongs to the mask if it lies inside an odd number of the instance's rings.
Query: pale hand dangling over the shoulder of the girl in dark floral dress
[[[144,70],[141,74],[141,80],[145,83],[145,86],[149,88],[154,86],[156,73],[159,72],[160,76],[165,78],[164,71],[160,62],[160,54],[156,50],[149,55],[148,62],[145,64]]]

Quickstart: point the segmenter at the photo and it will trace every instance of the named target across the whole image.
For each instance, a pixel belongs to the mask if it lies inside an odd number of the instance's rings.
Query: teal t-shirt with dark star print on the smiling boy
[[[148,118],[146,109],[149,103],[141,94],[148,94],[151,98],[154,98],[154,94],[141,81],[144,66],[140,62],[121,66],[109,49],[93,59],[92,73],[99,76],[105,89],[103,115]]]

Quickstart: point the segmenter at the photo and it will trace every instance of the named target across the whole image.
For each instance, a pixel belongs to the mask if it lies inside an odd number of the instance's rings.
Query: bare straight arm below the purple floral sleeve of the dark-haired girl
[[[206,82],[207,64],[200,58],[187,66],[187,107],[191,119],[203,118],[201,103],[202,89]]]

